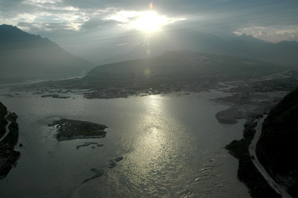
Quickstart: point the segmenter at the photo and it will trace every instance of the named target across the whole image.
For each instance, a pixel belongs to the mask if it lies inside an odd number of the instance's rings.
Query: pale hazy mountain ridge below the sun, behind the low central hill
[[[184,35],[181,38],[171,37],[166,41],[152,39],[149,46],[141,43],[129,53],[113,56],[100,63],[107,64],[123,60],[147,58],[161,55],[168,50],[191,50],[217,55],[240,56],[287,65],[297,65],[298,61],[298,56],[296,55],[298,54],[298,43],[295,41],[270,43],[245,34],[226,40],[212,34],[200,32],[187,32]],[[150,56],[145,55],[147,49],[152,53]]]

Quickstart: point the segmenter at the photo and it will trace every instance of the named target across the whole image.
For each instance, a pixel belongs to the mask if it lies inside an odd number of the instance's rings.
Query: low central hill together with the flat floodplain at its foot
[[[213,99],[229,106],[216,118],[220,123],[235,124],[237,119],[269,112],[298,86],[297,77],[296,69],[258,60],[169,51],[149,59],[100,65],[84,78],[10,86],[6,96],[22,97],[19,93],[25,92],[64,99],[110,99],[218,90],[232,95]]]

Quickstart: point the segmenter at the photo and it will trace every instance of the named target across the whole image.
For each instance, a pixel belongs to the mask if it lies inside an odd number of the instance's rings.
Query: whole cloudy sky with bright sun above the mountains
[[[99,60],[131,50],[146,34],[183,37],[184,30],[298,41],[298,1],[0,0],[1,24],[47,37],[87,59],[96,51]]]

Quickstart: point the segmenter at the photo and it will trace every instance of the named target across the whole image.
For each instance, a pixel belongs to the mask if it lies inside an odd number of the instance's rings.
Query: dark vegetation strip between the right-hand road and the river
[[[249,145],[253,139],[257,122],[245,124],[244,138],[234,140],[225,148],[235,158],[239,159],[238,178],[245,182],[250,188],[250,193],[253,197],[262,198],[277,198],[280,197],[267,183],[261,173],[254,166],[250,154]]]

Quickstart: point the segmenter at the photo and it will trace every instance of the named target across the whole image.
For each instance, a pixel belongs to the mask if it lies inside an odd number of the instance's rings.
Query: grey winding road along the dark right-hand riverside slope
[[[274,179],[268,174],[268,172],[265,170],[265,168],[262,166],[262,164],[259,162],[257,155],[256,155],[256,145],[257,142],[261,136],[262,133],[262,124],[264,122],[264,119],[267,117],[265,115],[263,118],[259,119],[258,125],[255,127],[256,134],[254,139],[252,140],[250,146],[249,146],[249,152],[251,156],[254,156],[254,159],[252,159],[254,165],[256,168],[260,171],[260,173],[263,175],[263,177],[266,179],[268,184],[283,198],[292,198],[291,195],[289,195],[278,183],[274,181]]]

